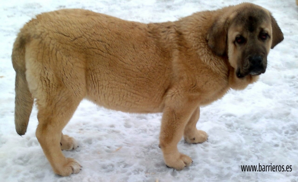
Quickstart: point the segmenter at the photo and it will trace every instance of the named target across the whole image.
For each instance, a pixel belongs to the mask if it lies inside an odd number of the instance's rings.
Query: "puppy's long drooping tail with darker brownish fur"
[[[27,130],[34,98],[28,88],[25,66],[25,45],[29,40],[24,32],[18,34],[12,49],[12,65],[15,70],[15,108],[14,123],[16,133],[24,135]]]

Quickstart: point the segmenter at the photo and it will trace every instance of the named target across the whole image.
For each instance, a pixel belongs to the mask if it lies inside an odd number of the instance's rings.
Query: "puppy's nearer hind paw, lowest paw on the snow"
[[[73,158],[66,158],[66,163],[61,167],[54,169],[55,173],[60,176],[70,176],[71,174],[77,174],[81,170],[82,166]]]

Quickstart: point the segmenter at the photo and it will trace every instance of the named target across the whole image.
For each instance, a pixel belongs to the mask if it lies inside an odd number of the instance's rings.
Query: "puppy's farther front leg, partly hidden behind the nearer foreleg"
[[[200,117],[200,107],[198,107],[194,113],[192,114],[191,118],[189,119],[188,123],[184,129],[184,139],[188,143],[203,143],[207,140],[208,135],[206,132],[202,130],[197,130],[196,124]]]

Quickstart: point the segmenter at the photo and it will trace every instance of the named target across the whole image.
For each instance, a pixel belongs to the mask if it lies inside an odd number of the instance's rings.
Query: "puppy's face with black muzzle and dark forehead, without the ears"
[[[236,76],[265,73],[272,45],[270,14],[262,9],[244,9],[230,22],[227,31],[228,58]]]

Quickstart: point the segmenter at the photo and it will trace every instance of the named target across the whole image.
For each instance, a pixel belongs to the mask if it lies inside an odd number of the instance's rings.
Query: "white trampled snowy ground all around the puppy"
[[[196,11],[240,0],[0,0],[1,182],[298,182],[298,7],[295,0],[250,0],[269,9],[285,40],[271,50],[259,82],[229,91],[201,109],[203,144],[178,148],[194,163],[183,171],[165,167],[158,135],[161,114],[128,114],[82,101],[64,130],[79,142],[64,151],[83,166],[70,177],[53,173],[35,137],[33,110],[26,135],[14,129],[14,70],[10,55],[18,30],[34,15],[85,8],[126,20],[175,21]],[[242,172],[240,165],[292,165],[292,172]]]

